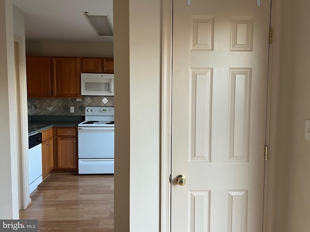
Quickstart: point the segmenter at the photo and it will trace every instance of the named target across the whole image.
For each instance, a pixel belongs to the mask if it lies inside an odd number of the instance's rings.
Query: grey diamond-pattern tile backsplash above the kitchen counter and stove
[[[74,113],[70,113],[70,107]],[[83,96],[76,98],[28,98],[28,115],[84,116],[86,106],[114,106],[114,96]]]

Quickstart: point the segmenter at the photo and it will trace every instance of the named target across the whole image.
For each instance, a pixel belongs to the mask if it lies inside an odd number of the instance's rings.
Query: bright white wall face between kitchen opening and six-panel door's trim
[[[161,4],[129,1],[130,231],[159,231]]]

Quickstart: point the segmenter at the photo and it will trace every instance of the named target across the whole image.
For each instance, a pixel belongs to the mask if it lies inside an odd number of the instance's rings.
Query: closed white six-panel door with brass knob
[[[171,232],[262,232],[269,19],[270,0],[173,1]]]

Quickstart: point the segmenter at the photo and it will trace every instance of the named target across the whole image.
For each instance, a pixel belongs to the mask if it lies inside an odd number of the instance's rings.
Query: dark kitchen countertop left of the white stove
[[[28,135],[45,131],[51,127],[78,127],[85,116],[28,116]]]

